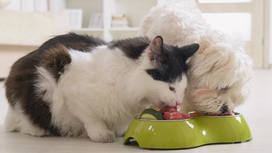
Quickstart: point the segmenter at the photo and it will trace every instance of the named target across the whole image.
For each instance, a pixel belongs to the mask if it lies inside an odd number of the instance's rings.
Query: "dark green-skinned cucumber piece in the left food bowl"
[[[143,110],[140,115],[140,119],[143,120],[164,120],[163,115],[155,109],[148,108]]]

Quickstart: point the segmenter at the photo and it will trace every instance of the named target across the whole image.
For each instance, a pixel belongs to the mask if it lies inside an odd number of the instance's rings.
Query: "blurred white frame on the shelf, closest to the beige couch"
[[[83,10],[82,9],[65,9],[64,11],[69,15],[70,28],[80,29],[82,27]]]

